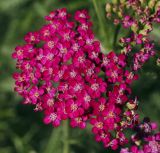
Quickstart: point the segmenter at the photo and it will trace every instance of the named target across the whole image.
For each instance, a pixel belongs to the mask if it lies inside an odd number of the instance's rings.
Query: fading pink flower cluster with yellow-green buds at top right
[[[129,37],[120,39],[121,52],[129,55],[132,69],[137,71],[148,59],[155,55],[155,47],[150,32],[153,23],[160,23],[160,3],[157,0],[129,0],[106,4],[107,17],[115,24],[132,31]],[[133,51],[136,53],[133,54]],[[159,59],[157,60],[158,63]]]

